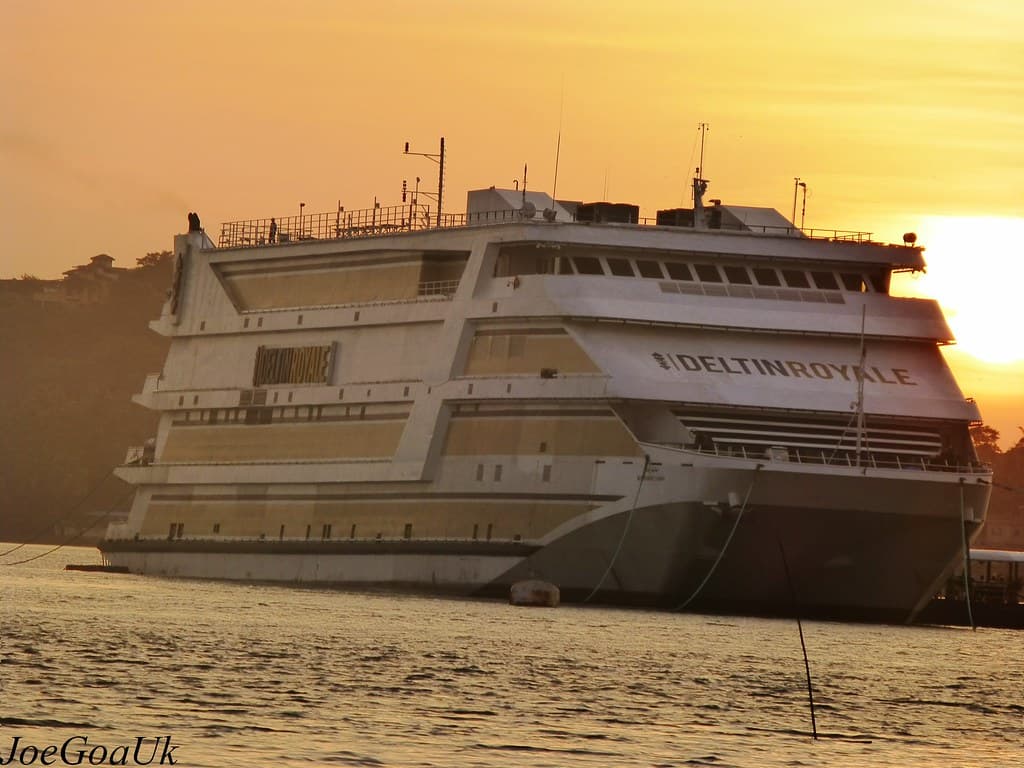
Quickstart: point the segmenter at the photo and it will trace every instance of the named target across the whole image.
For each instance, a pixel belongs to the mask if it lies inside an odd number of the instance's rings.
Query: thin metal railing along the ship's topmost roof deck
[[[517,210],[445,213],[441,215],[440,228],[503,224],[516,221],[543,222],[540,216],[525,218]],[[653,218],[642,217],[634,226],[656,226]],[[663,225],[664,226],[664,225]],[[295,243],[311,240],[346,240],[390,234],[399,231],[418,231],[437,228],[436,216],[430,207],[423,205],[375,206],[355,211],[338,209],[329,213],[308,213],[263,219],[227,221],[221,224],[219,248],[246,248],[254,246]],[[678,228],[678,227],[666,227]],[[692,227],[686,227],[692,228]],[[792,238],[870,243],[871,232],[844,229],[800,229],[795,226],[726,225],[717,229],[759,232]],[[715,231],[709,229],[708,231]]]

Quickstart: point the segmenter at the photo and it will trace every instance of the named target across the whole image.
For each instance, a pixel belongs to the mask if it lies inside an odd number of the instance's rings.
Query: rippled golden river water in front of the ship
[[[0,557],[0,761],[169,736],[215,768],[1024,764],[1013,631],[805,623],[815,741],[792,621],[6,565],[45,551]]]

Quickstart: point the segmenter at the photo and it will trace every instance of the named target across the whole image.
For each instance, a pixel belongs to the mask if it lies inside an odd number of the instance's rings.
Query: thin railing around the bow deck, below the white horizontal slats
[[[858,461],[856,452],[834,451],[827,449],[796,449],[785,445],[748,447],[746,445],[701,445],[695,449],[697,453],[712,456],[739,458],[791,464],[810,464],[829,467],[897,469],[918,472],[950,472],[957,474],[985,474],[989,467],[985,464],[969,462],[961,464],[940,459],[934,456],[907,456],[899,454],[878,454],[871,451],[861,451]]]

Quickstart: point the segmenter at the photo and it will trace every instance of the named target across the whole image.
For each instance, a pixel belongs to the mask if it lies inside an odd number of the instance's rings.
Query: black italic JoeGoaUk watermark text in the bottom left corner
[[[170,736],[137,736],[128,743],[90,743],[71,736],[59,743],[33,744],[14,736],[10,750],[0,748],[0,765],[177,765]]]

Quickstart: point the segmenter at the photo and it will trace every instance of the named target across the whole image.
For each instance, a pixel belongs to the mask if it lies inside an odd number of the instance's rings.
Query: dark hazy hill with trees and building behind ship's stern
[[[129,486],[111,470],[156,434],[157,414],[131,395],[167,355],[148,322],[166,297],[170,254],[134,269],[97,261],[102,280],[85,265],[62,281],[0,283],[0,540],[60,540],[90,515],[126,508]]]

